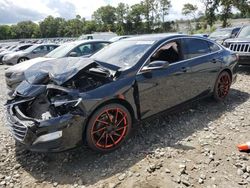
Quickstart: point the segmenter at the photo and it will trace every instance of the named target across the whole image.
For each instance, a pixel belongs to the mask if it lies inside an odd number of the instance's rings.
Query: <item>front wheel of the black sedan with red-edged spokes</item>
[[[86,128],[87,145],[98,152],[107,153],[119,148],[128,139],[132,128],[130,112],[120,104],[99,108]]]

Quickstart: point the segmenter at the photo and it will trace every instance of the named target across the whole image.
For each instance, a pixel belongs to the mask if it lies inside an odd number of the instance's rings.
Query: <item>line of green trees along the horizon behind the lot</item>
[[[189,3],[182,9],[183,15],[189,16],[189,20],[196,23],[196,29],[211,28],[218,19],[226,27],[229,18],[250,18],[248,0],[200,1],[204,5],[203,11]],[[22,21],[14,25],[0,25],[0,39],[78,37],[104,31],[119,35],[179,31],[178,21],[168,21],[170,8],[170,0],[143,0],[132,6],[125,3],[119,3],[117,7],[107,5],[98,8],[91,20],[79,15],[70,20],[48,16],[38,24]],[[240,12],[233,14],[235,8]]]

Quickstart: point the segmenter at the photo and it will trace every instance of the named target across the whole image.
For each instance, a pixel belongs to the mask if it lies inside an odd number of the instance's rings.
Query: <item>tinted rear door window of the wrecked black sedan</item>
[[[210,48],[208,42],[201,39],[183,39],[183,57],[184,59],[190,59],[194,57],[199,57],[210,53]]]

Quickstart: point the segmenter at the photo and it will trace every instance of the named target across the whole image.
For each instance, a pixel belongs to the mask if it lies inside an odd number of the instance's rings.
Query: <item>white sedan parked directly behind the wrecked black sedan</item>
[[[32,65],[63,57],[91,56],[108,44],[110,44],[109,41],[103,40],[84,40],[69,42],[62,44],[44,57],[31,59],[8,68],[5,71],[5,80],[7,87],[11,90],[9,94],[11,94],[12,91],[17,87],[17,85],[19,85],[20,82],[24,80],[24,71]]]

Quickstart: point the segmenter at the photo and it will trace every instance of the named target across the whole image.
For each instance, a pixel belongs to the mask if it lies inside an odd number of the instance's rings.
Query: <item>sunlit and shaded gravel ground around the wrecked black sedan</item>
[[[0,187],[250,187],[249,154],[236,148],[250,141],[250,68],[240,68],[223,103],[209,98],[146,120],[106,155],[16,148],[4,128],[4,82],[0,90]]]

